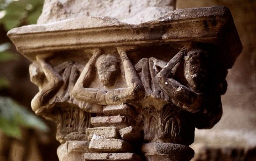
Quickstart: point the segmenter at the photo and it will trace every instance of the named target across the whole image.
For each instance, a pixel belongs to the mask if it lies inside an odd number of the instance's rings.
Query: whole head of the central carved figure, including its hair
[[[103,54],[96,61],[96,68],[99,74],[100,82],[111,87],[115,84],[118,72],[120,71],[120,58],[116,55]]]

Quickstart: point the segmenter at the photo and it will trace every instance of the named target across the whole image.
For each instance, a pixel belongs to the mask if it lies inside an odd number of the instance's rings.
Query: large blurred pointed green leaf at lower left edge
[[[0,129],[10,137],[21,138],[19,127],[49,131],[49,127],[41,118],[18,105],[11,98],[0,97]]]

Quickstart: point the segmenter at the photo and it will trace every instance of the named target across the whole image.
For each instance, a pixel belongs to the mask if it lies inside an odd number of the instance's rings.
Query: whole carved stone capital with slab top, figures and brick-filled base
[[[32,109],[57,122],[62,161],[190,160],[194,129],[222,116],[227,69],[242,49],[223,6],[133,25],[73,18],[8,36],[32,61]]]

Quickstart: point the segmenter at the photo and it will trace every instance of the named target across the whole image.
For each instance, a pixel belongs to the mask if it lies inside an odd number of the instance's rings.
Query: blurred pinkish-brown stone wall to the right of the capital
[[[222,96],[223,115],[221,120],[209,130],[195,130],[195,142],[191,148],[195,151],[195,158],[199,159],[202,154],[214,156],[217,147],[219,153],[217,156],[230,157],[229,150],[222,150],[222,147],[241,151],[243,153],[234,154],[234,157],[246,156],[246,149],[256,147],[256,1],[251,0],[219,0],[219,1],[201,1],[201,0],[180,0],[177,2],[177,8],[190,7],[208,7],[214,5],[227,6],[233,16],[238,34],[243,44],[243,51],[238,57],[232,69],[228,70],[227,83],[228,90]],[[236,143],[237,145],[233,145]],[[211,144],[211,145],[210,145]],[[207,151],[200,151],[196,148],[198,145],[207,146]],[[212,151],[211,151],[212,149]],[[198,155],[197,155],[198,154]],[[256,153],[254,152],[254,157]],[[252,156],[251,156],[252,157]],[[214,157],[213,157],[214,159]],[[246,157],[247,159],[247,157]],[[208,161],[210,158],[201,158],[201,161]],[[228,159],[221,159],[228,160]],[[236,160],[236,159],[231,159]],[[250,159],[248,159],[250,160]],[[252,158],[252,160],[256,160]]]

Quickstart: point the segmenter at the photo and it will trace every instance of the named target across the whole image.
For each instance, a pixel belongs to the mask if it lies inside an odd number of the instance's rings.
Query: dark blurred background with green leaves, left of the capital
[[[55,123],[31,110],[38,92],[29,79],[29,62],[6,33],[36,24],[44,0],[0,0],[0,161],[58,161]]]

